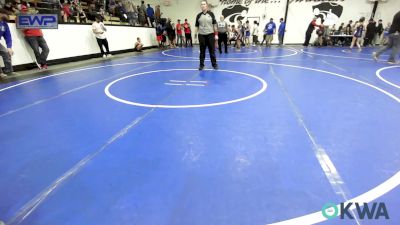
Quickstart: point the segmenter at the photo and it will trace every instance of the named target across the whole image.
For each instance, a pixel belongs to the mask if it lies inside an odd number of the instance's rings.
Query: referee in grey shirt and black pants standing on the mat
[[[198,36],[200,44],[199,70],[204,69],[206,47],[210,52],[211,64],[217,70],[218,64],[215,57],[215,40],[218,40],[217,21],[214,13],[208,11],[207,1],[201,1],[201,11],[196,17],[196,36]]]

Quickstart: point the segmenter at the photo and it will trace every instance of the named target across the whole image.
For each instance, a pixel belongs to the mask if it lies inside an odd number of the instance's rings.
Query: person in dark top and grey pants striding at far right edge
[[[392,26],[389,30],[388,45],[378,52],[374,52],[373,58],[377,61],[379,56],[389,49],[392,49],[392,52],[389,56],[388,63],[395,64],[396,57],[398,57],[398,53],[400,50],[400,11],[397,12],[396,15],[394,15],[393,17]]]

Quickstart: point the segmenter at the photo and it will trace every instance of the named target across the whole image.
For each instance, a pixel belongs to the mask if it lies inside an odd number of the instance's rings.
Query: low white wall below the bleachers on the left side
[[[14,23],[9,23],[13,39],[14,55],[12,63],[14,66],[34,62],[34,54],[20,30]],[[153,28],[108,26],[107,40],[110,51],[133,49],[136,38],[140,37],[144,47],[158,46],[156,32]],[[92,32],[91,25],[60,24],[58,29],[42,30],[47,45],[50,48],[48,60],[64,59],[70,57],[84,56],[99,53],[100,50],[96,38]],[[3,46],[5,41],[1,40]],[[0,64],[3,64],[0,60]]]

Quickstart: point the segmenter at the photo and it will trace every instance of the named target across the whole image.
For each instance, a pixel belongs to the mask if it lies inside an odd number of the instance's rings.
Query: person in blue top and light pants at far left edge
[[[0,44],[0,56],[3,58],[4,62],[4,70],[0,68],[0,77],[6,78],[7,75],[13,73],[13,68],[11,64],[11,56],[14,54],[12,50],[12,38],[10,28],[7,24],[8,12],[5,9],[0,9],[0,39],[4,38],[6,41],[5,48],[2,44]]]

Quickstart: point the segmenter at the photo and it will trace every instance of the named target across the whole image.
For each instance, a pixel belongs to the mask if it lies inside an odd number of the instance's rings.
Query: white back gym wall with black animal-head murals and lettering
[[[163,0],[152,2],[160,4],[163,16],[170,17],[174,23],[178,18],[181,20],[187,18],[194,26],[195,17],[200,12],[201,0],[170,0],[169,6],[164,6]],[[211,10],[217,19],[223,14],[228,23],[238,18],[244,21],[248,19],[251,24],[254,20],[260,21],[260,41],[265,24],[270,18],[274,18],[278,26],[279,18],[285,17],[287,4],[286,0],[209,0],[209,2],[215,5]],[[286,44],[304,42],[305,31],[314,15],[323,17],[330,23],[336,23],[339,27],[341,22],[347,24],[349,20],[357,20],[361,16],[368,19],[374,6],[370,0],[289,0],[289,2]],[[393,15],[399,10],[400,0],[380,2],[375,19],[383,19],[386,25],[387,22],[392,21]],[[274,37],[274,43],[277,42],[278,38]]]

